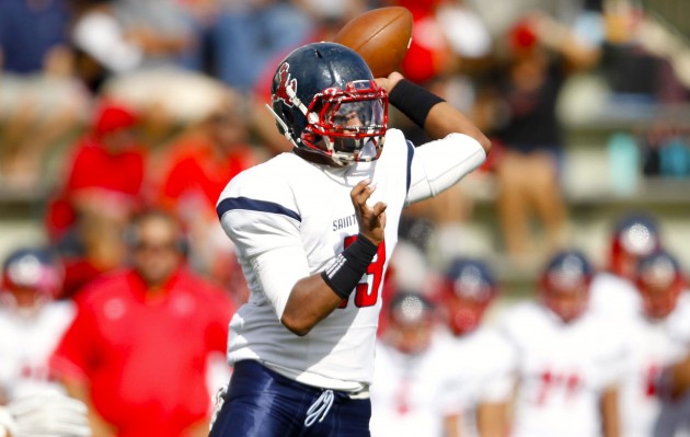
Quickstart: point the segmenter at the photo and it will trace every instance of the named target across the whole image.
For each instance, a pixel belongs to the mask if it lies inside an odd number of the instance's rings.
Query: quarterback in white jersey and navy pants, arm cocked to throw
[[[381,281],[402,209],[491,147],[463,114],[334,43],[297,48],[272,83],[292,142],[232,179],[217,210],[251,297],[230,323],[233,376],[211,436],[368,436]],[[434,141],[387,129],[388,102]]]

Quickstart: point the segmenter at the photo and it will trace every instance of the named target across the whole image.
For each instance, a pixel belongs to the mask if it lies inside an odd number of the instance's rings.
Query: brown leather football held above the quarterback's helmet
[[[357,51],[375,78],[398,70],[412,42],[412,13],[402,7],[372,9],[348,21],[334,43]]]

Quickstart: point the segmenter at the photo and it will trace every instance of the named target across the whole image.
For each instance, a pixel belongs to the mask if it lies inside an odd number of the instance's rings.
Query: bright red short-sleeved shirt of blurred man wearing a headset
[[[131,271],[87,286],[53,370],[91,384],[119,437],[182,436],[206,417],[209,353],[223,353],[233,308],[222,289],[181,269],[162,295]]]

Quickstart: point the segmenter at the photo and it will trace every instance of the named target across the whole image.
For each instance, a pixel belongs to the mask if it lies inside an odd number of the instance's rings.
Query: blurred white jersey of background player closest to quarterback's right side
[[[435,333],[417,355],[379,341],[371,386],[372,437],[444,436],[444,418],[459,413],[453,399],[458,354]]]

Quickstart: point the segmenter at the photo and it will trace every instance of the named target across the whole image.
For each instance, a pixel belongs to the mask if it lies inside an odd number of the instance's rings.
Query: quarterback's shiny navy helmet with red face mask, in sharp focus
[[[365,60],[336,43],[291,51],[271,85],[278,130],[294,147],[335,165],[378,159],[388,124],[388,94]]]

